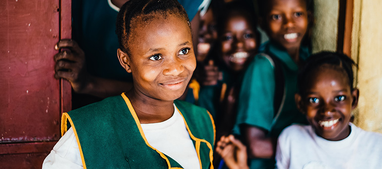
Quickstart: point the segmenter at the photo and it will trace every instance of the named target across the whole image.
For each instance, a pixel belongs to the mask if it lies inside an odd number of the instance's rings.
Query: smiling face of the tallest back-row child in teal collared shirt
[[[271,0],[264,29],[271,39],[286,49],[299,48],[308,28],[305,0]]]

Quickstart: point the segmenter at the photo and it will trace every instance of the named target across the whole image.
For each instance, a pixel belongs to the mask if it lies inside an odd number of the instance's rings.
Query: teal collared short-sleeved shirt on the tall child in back
[[[307,123],[306,118],[298,111],[294,99],[297,91],[298,66],[286,52],[275,43],[267,42],[263,51],[281,61],[285,79],[286,99],[281,113],[276,119],[273,110],[275,90],[274,68],[264,56],[256,55],[249,65],[239,95],[236,131],[239,126],[248,124],[268,131],[268,136],[277,138],[281,131],[292,123]],[[300,59],[306,60],[310,53],[308,48],[300,48]],[[284,91],[285,92],[285,91]],[[274,168],[273,159],[254,159],[251,169]]]

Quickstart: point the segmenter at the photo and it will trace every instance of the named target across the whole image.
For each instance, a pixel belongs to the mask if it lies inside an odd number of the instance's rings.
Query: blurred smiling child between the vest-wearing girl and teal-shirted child
[[[235,123],[236,98],[245,68],[257,52],[258,36],[252,3],[226,3],[218,18],[215,63],[222,80],[215,85],[202,85],[198,105],[211,112],[216,120],[218,136],[228,134]],[[218,123],[220,125],[218,125]]]

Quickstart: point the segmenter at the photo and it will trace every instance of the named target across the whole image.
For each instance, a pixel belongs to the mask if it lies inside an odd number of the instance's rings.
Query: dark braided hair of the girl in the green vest
[[[170,14],[179,15],[189,23],[186,10],[177,0],[129,0],[120,8],[117,15],[116,34],[120,43],[120,49],[130,54],[128,42],[130,31],[139,23],[150,21],[154,16],[166,18]],[[140,20],[134,19],[139,18]],[[191,26],[190,26],[191,29]]]

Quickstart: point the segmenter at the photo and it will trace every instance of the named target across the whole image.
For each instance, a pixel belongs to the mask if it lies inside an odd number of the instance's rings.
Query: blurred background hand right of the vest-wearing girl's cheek
[[[219,80],[223,79],[222,72],[219,72],[217,66],[214,65],[212,60],[209,60],[208,65],[204,66],[205,80],[203,85],[216,85]]]

